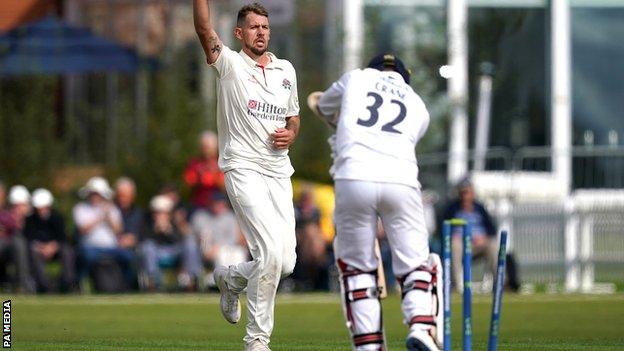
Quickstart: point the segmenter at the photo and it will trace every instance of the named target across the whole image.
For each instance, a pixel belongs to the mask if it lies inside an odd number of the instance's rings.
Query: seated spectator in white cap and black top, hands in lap
[[[67,242],[65,221],[52,208],[54,198],[46,189],[33,192],[33,213],[26,218],[24,236],[28,241],[30,268],[37,292],[51,290],[50,278],[45,269],[47,262],[59,260],[61,263],[61,291],[74,289],[75,261],[74,252]]]

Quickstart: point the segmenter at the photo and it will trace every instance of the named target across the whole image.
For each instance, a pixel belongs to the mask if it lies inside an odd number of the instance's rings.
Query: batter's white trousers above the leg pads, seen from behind
[[[374,245],[381,218],[396,276],[410,273],[429,257],[420,190],[402,184],[336,180],[336,257],[362,271],[377,269]]]

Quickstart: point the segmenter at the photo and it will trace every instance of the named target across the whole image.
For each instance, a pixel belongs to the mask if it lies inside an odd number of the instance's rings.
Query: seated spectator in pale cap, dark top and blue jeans
[[[179,268],[178,284],[194,290],[201,273],[197,243],[188,227],[180,228],[174,218],[174,202],[166,195],[157,195],[150,202],[151,218],[145,226],[142,258],[149,279],[149,289],[161,285],[161,265]]]

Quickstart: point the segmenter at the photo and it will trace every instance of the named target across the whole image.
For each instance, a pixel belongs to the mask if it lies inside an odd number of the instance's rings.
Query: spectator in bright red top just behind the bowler
[[[189,161],[184,170],[184,181],[191,187],[194,208],[208,208],[212,194],[224,190],[223,173],[219,170],[217,135],[205,131],[199,139],[201,156]]]

